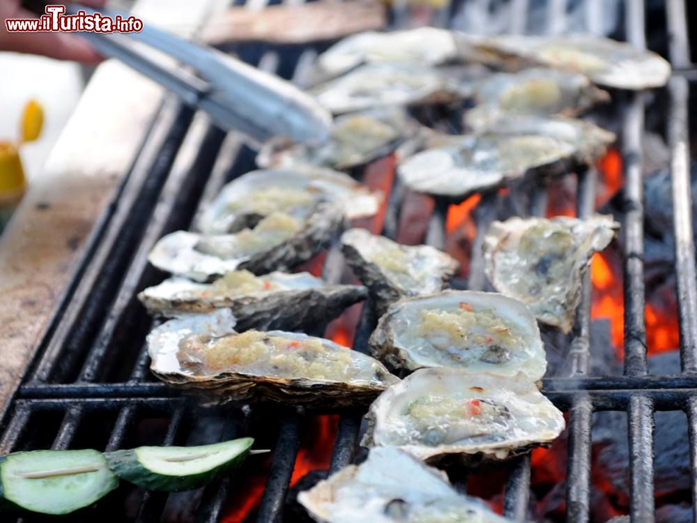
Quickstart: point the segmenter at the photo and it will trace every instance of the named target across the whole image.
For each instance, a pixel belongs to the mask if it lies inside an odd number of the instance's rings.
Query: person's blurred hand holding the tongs
[[[81,0],[85,6],[98,8],[106,0]],[[97,63],[102,60],[84,38],[73,33],[8,33],[8,18],[36,18],[24,9],[21,0],[0,0],[0,51],[43,54],[59,60]]]

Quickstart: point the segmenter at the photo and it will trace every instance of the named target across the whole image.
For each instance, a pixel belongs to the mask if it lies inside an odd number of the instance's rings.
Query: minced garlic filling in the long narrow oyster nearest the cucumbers
[[[179,344],[177,358],[194,374],[223,371],[327,381],[383,381],[388,372],[372,358],[327,347],[318,338],[292,340],[247,331],[222,338],[192,335]]]

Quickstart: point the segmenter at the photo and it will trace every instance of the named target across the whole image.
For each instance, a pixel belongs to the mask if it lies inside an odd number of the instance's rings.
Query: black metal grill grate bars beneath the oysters
[[[602,1],[583,3],[585,30],[602,26]],[[489,2],[479,4],[482,20]],[[562,0],[546,3],[548,32],[565,31],[565,13],[572,4]],[[573,3],[574,6],[579,4]],[[493,5],[493,4],[492,4]],[[506,4],[508,31],[526,30],[528,1]],[[449,25],[461,6],[430,13],[432,24]],[[645,47],[645,6],[642,0],[626,0],[620,9],[618,34],[636,47]],[[598,411],[621,411],[627,415],[629,446],[629,515],[634,522],[652,522],[654,501],[654,414],[684,411],[689,429],[691,462],[691,505],[697,507],[697,275],[692,231],[692,202],[689,172],[688,96],[689,59],[685,3],[667,0],[665,6],[668,56],[676,71],[666,89],[657,96],[668,103],[661,119],[671,154],[673,234],[675,237],[675,293],[680,333],[682,372],[649,375],[645,329],[643,151],[645,118],[654,107],[648,93],[613,93],[618,115],[617,144],[621,153],[624,189],[622,208],[622,268],[624,287],[624,374],[590,375],[590,358],[603,347],[591,346],[590,275],[583,284],[583,299],[572,333],[558,340],[565,347],[564,375],[543,380],[544,393],[567,412],[567,455],[565,520],[585,522],[592,504],[592,420]],[[404,26],[409,17],[399,8],[392,24]],[[275,70],[286,78],[300,79],[316,52],[325,48],[245,44],[237,45],[239,56],[254,65]],[[428,114],[420,114],[422,119]],[[656,114],[652,114],[652,119]],[[409,194],[395,179],[394,159],[382,158],[353,174],[389,195],[384,211],[371,223],[390,238],[399,238],[408,227],[404,204]],[[151,377],[144,347],[152,321],[135,298],[141,289],[155,285],[163,274],[146,257],[164,234],[187,229],[203,203],[224,183],[255,168],[254,152],[242,137],[225,134],[206,119],[174,99],[162,105],[160,114],[143,144],[137,161],[125,177],[112,206],[95,227],[77,273],[38,347],[13,402],[3,412],[0,452],[35,448],[97,448],[115,450],[139,444],[203,444],[250,435],[257,448],[271,448],[267,458],[266,483],[257,485],[259,505],[250,505],[250,475],[261,467],[260,457],[230,478],[223,478],[195,494],[141,492],[123,485],[89,508],[89,520],[159,521],[174,514],[192,513],[190,519],[217,522],[239,520],[295,521],[289,483],[299,451],[308,432],[337,423],[333,448],[324,449],[330,471],[337,471],[360,454],[358,432],[363,411],[344,411],[339,416],[318,416],[272,404],[252,407],[202,407],[195,397],[183,395]],[[599,173],[595,168],[566,175],[575,179],[576,214],[588,217],[595,211]],[[542,184],[525,187],[526,202],[520,213],[544,215],[548,188]],[[500,193],[480,195],[472,211],[476,235],[470,245],[468,277],[454,287],[484,289],[481,254],[482,236],[496,219]],[[551,200],[550,200],[551,201]],[[459,202],[433,201],[427,225],[422,223],[424,243],[444,248],[447,241],[449,207]],[[422,204],[431,204],[424,199]],[[347,277],[337,247],[319,259],[323,276],[334,282]],[[315,267],[321,261],[315,260]],[[365,350],[376,324],[372,303],[364,303],[353,334],[353,348]],[[317,326],[322,333],[326,326]],[[548,340],[549,341],[549,340]],[[337,420],[338,418],[338,420]],[[312,435],[312,434],[310,434]],[[307,449],[306,449],[307,450]],[[312,449],[309,449],[312,450]],[[323,450],[323,449],[314,449]],[[504,473],[505,472],[505,473]],[[503,512],[515,520],[530,516],[530,455],[506,462],[500,481]],[[466,485],[468,471],[460,471],[457,482]],[[256,476],[254,476],[256,477]],[[241,494],[240,494],[241,493]],[[240,495],[246,495],[242,499]],[[241,507],[241,508],[240,508]],[[292,507],[291,507],[292,508]],[[289,511],[290,510],[290,511]],[[694,510],[694,509],[693,509]],[[164,516],[163,516],[164,514]],[[693,513],[693,521],[696,516]],[[185,517],[186,519],[186,517]],[[17,521],[41,520],[22,516]]]

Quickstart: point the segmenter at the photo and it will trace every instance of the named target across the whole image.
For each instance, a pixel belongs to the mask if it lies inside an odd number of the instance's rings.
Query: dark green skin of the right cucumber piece
[[[192,474],[190,476],[164,476],[146,469],[138,460],[135,450],[115,450],[105,453],[109,469],[121,479],[124,479],[145,490],[160,492],[180,492],[193,490],[213,481],[222,473],[236,469],[243,462],[250,449],[247,448],[233,460],[211,469],[210,471]]]

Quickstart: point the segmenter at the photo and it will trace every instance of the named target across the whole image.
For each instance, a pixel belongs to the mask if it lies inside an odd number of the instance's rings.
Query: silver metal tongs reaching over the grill
[[[97,11],[67,4],[66,14]],[[128,15],[116,10],[105,16]],[[212,47],[203,47],[144,24],[139,33],[79,33],[103,56],[116,58],[176,93],[185,103],[208,113],[226,130],[238,130],[257,142],[287,136],[297,142],[323,142],[332,117],[311,96],[286,80],[234,59]],[[184,68],[167,68],[155,61],[142,44],[171,56]]]

